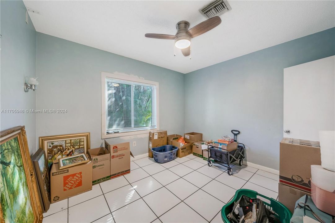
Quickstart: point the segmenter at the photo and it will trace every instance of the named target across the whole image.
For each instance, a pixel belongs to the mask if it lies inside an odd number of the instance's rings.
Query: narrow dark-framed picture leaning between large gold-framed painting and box
[[[31,157],[32,164],[35,168],[35,175],[37,177],[37,187],[41,201],[43,212],[47,212],[50,207],[50,178],[47,156],[43,149],[37,150],[34,156]],[[43,204],[43,205],[42,205]]]

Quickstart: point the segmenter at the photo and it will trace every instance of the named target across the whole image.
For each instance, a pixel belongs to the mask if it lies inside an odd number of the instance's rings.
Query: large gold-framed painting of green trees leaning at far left
[[[24,126],[0,133],[1,222],[42,222],[34,167]]]

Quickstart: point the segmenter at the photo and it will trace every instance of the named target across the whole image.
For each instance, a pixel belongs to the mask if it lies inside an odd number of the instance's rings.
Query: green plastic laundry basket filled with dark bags
[[[248,189],[237,190],[233,199],[221,210],[225,223],[289,223],[291,216],[291,212],[280,202]]]

